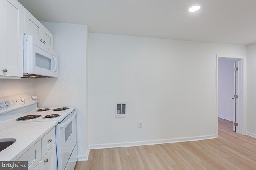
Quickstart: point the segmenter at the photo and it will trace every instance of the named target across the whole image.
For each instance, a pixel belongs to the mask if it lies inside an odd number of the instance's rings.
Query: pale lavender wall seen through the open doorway
[[[219,59],[219,117],[233,121],[234,62],[236,60]]]

